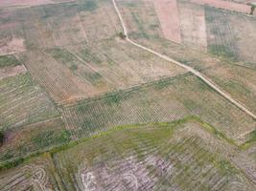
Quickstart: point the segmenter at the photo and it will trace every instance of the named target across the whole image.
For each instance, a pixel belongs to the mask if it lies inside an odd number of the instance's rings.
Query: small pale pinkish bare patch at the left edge
[[[3,39],[0,41],[0,55],[20,53],[26,51],[23,38]]]

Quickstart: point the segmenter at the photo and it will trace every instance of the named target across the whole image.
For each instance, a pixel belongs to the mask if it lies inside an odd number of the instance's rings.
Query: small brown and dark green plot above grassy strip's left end
[[[0,162],[44,151],[70,139],[59,117],[6,131],[4,143],[0,147]]]

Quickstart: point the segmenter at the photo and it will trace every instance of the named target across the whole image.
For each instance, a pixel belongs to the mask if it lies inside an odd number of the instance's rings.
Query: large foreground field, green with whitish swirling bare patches
[[[254,190],[232,146],[197,123],[144,125],[54,155],[67,190]]]

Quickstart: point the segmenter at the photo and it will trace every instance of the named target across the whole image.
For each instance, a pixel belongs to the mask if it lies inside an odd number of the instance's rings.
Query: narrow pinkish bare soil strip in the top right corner
[[[190,0],[190,1],[192,3],[196,3],[199,5],[209,5],[211,7],[221,8],[229,11],[239,11],[244,13],[250,12],[250,6],[239,4],[239,3],[232,3],[229,1],[222,1],[222,0]]]

